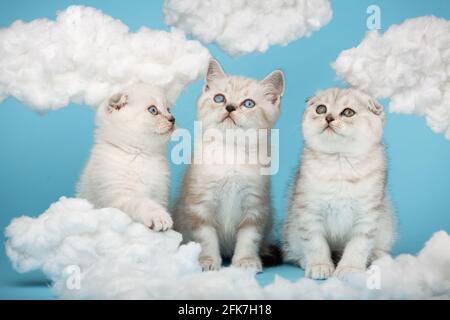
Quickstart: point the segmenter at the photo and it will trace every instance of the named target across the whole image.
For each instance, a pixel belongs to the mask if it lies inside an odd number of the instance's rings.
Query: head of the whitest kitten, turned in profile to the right
[[[175,129],[164,93],[152,86],[135,85],[112,96],[98,114],[99,126],[119,134],[168,139]]]

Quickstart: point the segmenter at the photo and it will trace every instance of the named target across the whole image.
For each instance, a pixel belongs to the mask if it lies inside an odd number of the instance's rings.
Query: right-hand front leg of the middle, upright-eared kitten
[[[245,221],[244,221],[245,222]],[[236,235],[236,247],[231,263],[236,267],[262,270],[259,257],[261,246],[261,228],[253,223],[244,223]]]

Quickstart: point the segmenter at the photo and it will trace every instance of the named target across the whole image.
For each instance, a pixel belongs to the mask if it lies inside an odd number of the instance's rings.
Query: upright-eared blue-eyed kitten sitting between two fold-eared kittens
[[[209,63],[206,83],[198,99],[198,119],[205,132],[270,129],[278,118],[284,76],[274,71],[262,81],[228,76],[219,63]],[[227,130],[228,129],[228,130]],[[197,137],[194,159],[226,154],[226,137],[204,141]],[[258,141],[248,142],[249,153]],[[217,160],[217,159],[216,159]],[[269,255],[271,231],[270,179],[260,164],[228,161],[191,164],[174,210],[175,230],[185,241],[201,245],[203,270],[217,270],[222,257],[238,267],[262,269],[260,255]],[[272,247],[273,249],[274,247]]]

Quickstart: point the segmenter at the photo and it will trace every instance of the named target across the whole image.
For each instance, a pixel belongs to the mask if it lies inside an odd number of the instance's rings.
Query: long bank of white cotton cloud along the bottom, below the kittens
[[[444,231],[417,256],[376,261],[379,290],[368,289],[364,273],[322,283],[277,276],[265,288],[242,269],[202,273],[198,244],[180,246],[181,235],[174,231],[153,232],[117,209],[94,209],[82,199],[61,198],[36,218],[14,219],[5,234],[13,266],[20,272],[43,270],[60,298],[450,298],[450,237]]]

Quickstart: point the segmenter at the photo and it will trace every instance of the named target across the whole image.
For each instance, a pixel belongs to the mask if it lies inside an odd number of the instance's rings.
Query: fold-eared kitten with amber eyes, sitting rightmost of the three
[[[305,148],[284,226],[284,256],[307,277],[362,271],[389,252],[394,218],[383,126],[383,107],[356,89],[328,89],[308,100]],[[341,256],[336,269],[332,253]]]

